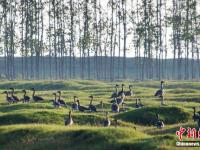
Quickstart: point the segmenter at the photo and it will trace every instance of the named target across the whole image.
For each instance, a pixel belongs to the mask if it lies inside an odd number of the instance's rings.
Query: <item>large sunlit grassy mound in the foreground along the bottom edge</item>
[[[130,128],[11,125],[0,127],[0,149],[155,149],[151,136]],[[138,142],[140,140],[140,142]],[[145,143],[145,146],[143,145]],[[143,145],[143,146],[142,146]]]

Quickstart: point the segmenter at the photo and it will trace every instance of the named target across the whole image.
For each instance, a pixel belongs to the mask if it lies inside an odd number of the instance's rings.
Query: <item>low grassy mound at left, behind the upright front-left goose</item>
[[[0,125],[42,123],[42,124],[64,124],[66,114],[56,111],[29,111],[23,113],[7,113],[0,115]],[[79,125],[101,125],[104,117],[95,114],[73,114],[75,124]]]

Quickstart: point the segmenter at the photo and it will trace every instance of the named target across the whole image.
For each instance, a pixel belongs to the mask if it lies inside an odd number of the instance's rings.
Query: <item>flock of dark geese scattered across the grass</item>
[[[161,104],[163,105],[164,104],[164,98],[163,98],[163,94],[164,94],[164,88],[163,88],[163,84],[164,84],[164,81],[161,81],[161,84],[160,84],[160,89],[156,91],[155,95],[154,96],[157,96],[157,97],[160,97],[161,98]],[[111,97],[112,100],[110,101],[112,104],[111,104],[111,111],[112,112],[115,112],[115,113],[118,113],[118,112],[123,112],[125,111],[124,110],[124,105],[125,105],[125,102],[124,102],[124,99],[125,97],[128,97],[128,96],[133,96],[134,95],[134,92],[132,90],[132,85],[129,85],[129,90],[128,91],[125,91],[124,90],[124,84],[121,85],[121,90],[119,91],[118,88],[120,87],[120,85],[116,84],[115,85],[115,91],[112,93]],[[11,91],[4,91],[3,93],[6,94],[6,101],[11,104],[11,103],[18,103],[20,101],[22,101],[23,103],[27,103],[27,102],[30,102],[31,101],[31,98],[27,95],[27,91],[26,90],[22,90],[23,92],[23,98],[22,99],[19,99],[16,95],[15,95],[15,89],[14,88],[10,88]],[[40,101],[43,101],[44,98],[40,97],[40,96],[37,96],[35,95],[35,89],[34,88],[31,88],[30,89],[32,91],[32,100],[34,102],[40,102]],[[62,107],[62,106],[67,106],[66,102],[64,100],[61,99],[61,91],[57,91],[56,93],[53,93],[54,95],[54,100],[50,100],[53,104],[54,107],[58,108],[58,107]],[[78,99],[77,96],[74,96],[73,97],[73,103],[72,105],[70,106],[71,107],[71,110],[72,111],[80,111],[80,112],[97,112],[97,107],[95,105],[93,105],[93,95],[90,95],[89,96],[90,98],[90,103],[88,105],[88,107],[86,106],[82,106],[80,104],[80,100]],[[101,109],[103,111],[103,102],[101,101],[100,102],[100,105],[101,105]],[[120,108],[121,106],[121,108]],[[144,105],[142,104],[141,102],[141,99],[140,98],[136,98],[136,103],[135,103],[135,108],[142,108],[144,107]],[[73,119],[72,119],[72,111],[69,111],[69,114],[68,114],[68,117],[66,118],[65,120],[65,125],[72,125],[74,122],[73,122]],[[104,126],[110,126],[111,125],[111,120],[109,119],[109,116],[108,116],[108,112],[106,112],[106,117],[105,117],[105,120],[103,122],[103,125]],[[156,118],[156,123],[155,123],[155,126],[157,128],[164,128],[164,122],[159,120],[159,115],[157,112],[155,112],[155,118]],[[194,108],[194,114],[193,114],[193,119],[194,121],[198,121],[198,126],[200,126],[200,113],[199,114],[196,114],[196,110]],[[117,120],[115,120],[117,122]]]

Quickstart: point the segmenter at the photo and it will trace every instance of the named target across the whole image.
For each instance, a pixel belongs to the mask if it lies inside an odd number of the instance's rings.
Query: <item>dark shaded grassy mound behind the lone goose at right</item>
[[[179,107],[149,107],[136,109],[116,115],[116,118],[141,125],[154,125],[156,122],[155,112],[159,114],[159,119],[164,121],[165,124],[187,122],[190,119],[190,114]]]

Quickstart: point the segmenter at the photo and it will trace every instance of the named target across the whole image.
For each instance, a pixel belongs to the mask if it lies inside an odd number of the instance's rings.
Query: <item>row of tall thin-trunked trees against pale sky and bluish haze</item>
[[[171,79],[199,78],[198,5],[197,0],[1,0],[1,74],[10,80],[113,81],[135,71],[134,79],[160,80],[169,78],[172,58]],[[134,57],[131,64],[127,56]]]

